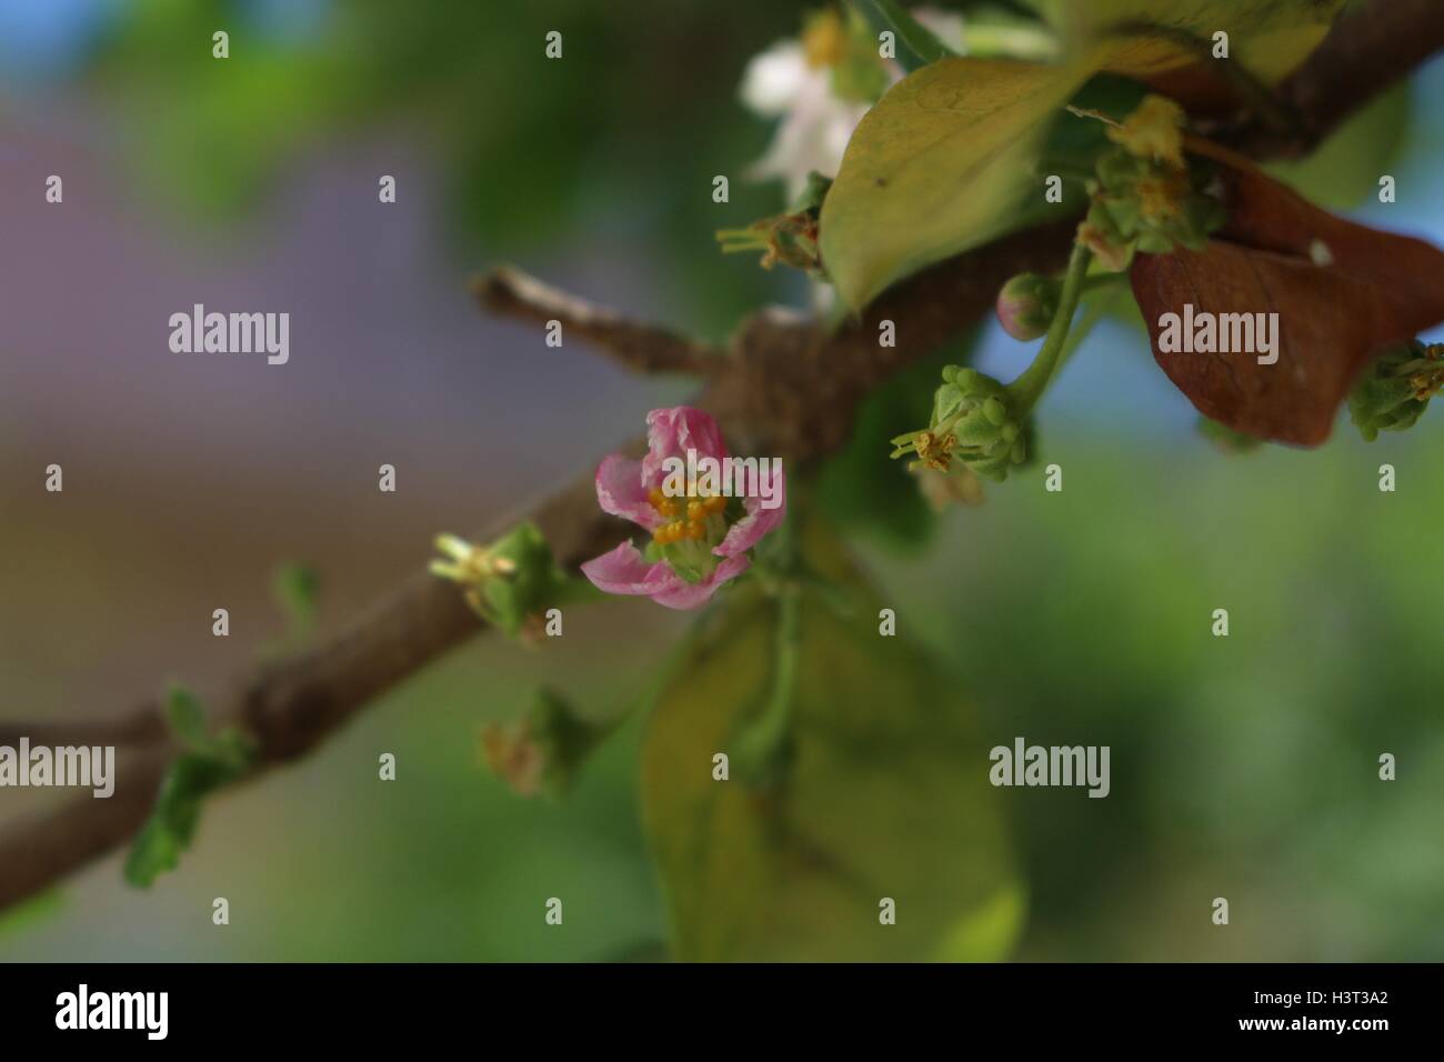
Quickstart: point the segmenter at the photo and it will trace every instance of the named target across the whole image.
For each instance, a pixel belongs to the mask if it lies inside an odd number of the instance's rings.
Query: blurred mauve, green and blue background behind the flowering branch
[[[516,262],[712,340],[760,305],[806,305],[796,276],[723,259],[713,230],[784,205],[742,176],[774,124],[738,87],[816,6],[0,0],[0,711],[118,712],[168,679],[219,695],[286,639],[277,566],[316,569],[319,633],[336,630],[422,568],[436,532],[526,511],[687,393],[488,321],[471,275]],[[543,55],[552,29],[562,61]],[[1444,243],[1441,92],[1435,62],[1281,175]],[[62,207],[43,201],[51,173]],[[1380,173],[1393,205],[1375,201]],[[290,312],[290,363],[172,354],[168,318],[195,302]],[[963,342],[1004,377],[1031,357],[992,325]],[[1428,458],[1444,425],[1369,445],[1344,420],[1315,452],[1226,454],[1138,322],[1110,314],[1041,407],[1064,491],[1017,477],[933,519],[877,439],[915,426],[898,403],[924,409],[934,380],[924,366],[878,396],[822,485],[980,750],[947,764],[967,795],[946,813],[996,837],[941,858],[949,821],[904,848],[936,865],[931,893],[988,863],[1024,897],[999,954],[1025,959],[1444,958],[1444,467]],[[52,462],[62,494],[43,488]],[[375,487],[384,462],[396,494]],[[0,913],[0,958],[663,957],[680,886],[658,881],[643,826],[645,714],[565,802],[516,796],[477,734],[543,681],[624,711],[686,627],[617,600],[575,610],[544,652],[468,644],[310,759],[211,800],[152,890],[111,857]],[[875,709],[913,711],[913,685],[879,682]],[[1017,735],[1110,746],[1112,793],[976,795],[986,747]],[[900,821],[937,811],[901,767],[869,779],[859,799]],[[3,790],[0,821],[45,799]],[[550,896],[567,897],[565,933],[540,918]]]

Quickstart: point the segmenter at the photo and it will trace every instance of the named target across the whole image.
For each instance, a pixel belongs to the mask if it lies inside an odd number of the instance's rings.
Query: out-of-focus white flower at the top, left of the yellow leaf
[[[838,172],[852,130],[868,113],[868,104],[833,95],[832,69],[812,66],[796,40],[778,42],[748,62],[742,103],[762,117],[783,120],[748,176],[781,178],[788,199],[801,194],[812,170]]]

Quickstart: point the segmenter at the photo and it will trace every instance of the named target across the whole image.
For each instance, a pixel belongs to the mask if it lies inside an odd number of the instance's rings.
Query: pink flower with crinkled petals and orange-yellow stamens
[[[582,574],[608,594],[644,594],[667,608],[706,604],[748,569],[748,551],[787,510],[780,464],[771,478],[767,461],[757,462],[757,475],[729,477],[726,458],[716,420],[700,409],[651,410],[647,457],[612,454],[596,470],[602,510],[651,532],[651,543],[643,552],[624,542],[583,564]],[[713,461],[721,477],[708,475]],[[742,488],[748,493],[736,497]]]

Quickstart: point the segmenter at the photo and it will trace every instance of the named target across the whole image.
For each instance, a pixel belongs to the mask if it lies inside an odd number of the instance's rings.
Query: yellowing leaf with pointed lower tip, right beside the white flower
[[[852,134],[822,207],[822,257],[852,308],[908,273],[1002,234],[1048,116],[1090,69],[943,59],[894,85]]]

